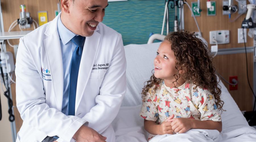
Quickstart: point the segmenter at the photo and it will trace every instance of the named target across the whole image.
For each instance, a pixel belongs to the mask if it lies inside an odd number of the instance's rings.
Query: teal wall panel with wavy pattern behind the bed
[[[150,33],[161,34],[164,7],[165,0],[109,2],[103,23],[122,34],[124,45],[146,44]],[[174,9],[170,6],[169,19],[173,31]]]

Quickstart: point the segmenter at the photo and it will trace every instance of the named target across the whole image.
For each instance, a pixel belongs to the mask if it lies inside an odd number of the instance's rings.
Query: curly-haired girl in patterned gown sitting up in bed
[[[224,102],[212,58],[201,39],[182,30],[168,34],[154,66],[142,91],[140,113],[149,139],[190,129],[222,130]]]

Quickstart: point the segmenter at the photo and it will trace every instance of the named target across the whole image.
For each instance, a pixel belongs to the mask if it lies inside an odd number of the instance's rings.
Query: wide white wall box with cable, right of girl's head
[[[229,30],[210,31],[210,44],[227,44],[229,43]]]

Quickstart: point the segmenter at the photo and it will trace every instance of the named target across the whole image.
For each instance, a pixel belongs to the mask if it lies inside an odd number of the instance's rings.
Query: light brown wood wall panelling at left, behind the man
[[[55,17],[54,11],[57,10],[57,3],[59,3],[59,0],[1,0],[1,6],[3,11],[3,23],[4,23],[4,29],[5,32],[8,31],[9,26],[17,20],[20,14],[20,5],[24,4],[26,5],[26,11],[30,12],[30,16],[38,22],[38,11],[47,11],[48,12],[48,21],[53,20]],[[26,30],[34,30],[33,26],[32,28],[26,29]],[[18,26],[13,28],[12,31],[20,31]],[[18,44],[18,39],[12,39],[9,40],[12,45]],[[10,47],[7,42],[7,51],[13,52],[13,48]],[[20,118],[20,114],[16,108],[16,89],[15,84],[11,84],[11,90],[12,90],[12,97],[13,97],[13,106],[14,106],[14,114],[15,114],[15,122],[16,122],[16,131],[18,132],[20,130],[20,127],[22,125],[22,119]]]

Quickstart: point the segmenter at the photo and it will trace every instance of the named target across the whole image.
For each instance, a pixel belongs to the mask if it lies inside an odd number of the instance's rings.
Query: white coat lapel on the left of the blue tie
[[[59,14],[60,15],[60,14]],[[58,16],[59,16],[58,15]],[[52,103],[57,103],[56,107],[61,111],[62,108],[62,100],[63,100],[63,63],[62,63],[62,55],[61,55],[61,45],[59,40],[59,33],[57,30],[57,20],[58,16],[54,18],[54,20],[50,23],[48,30],[46,30],[45,34],[49,37],[44,39],[44,48],[46,51],[46,55],[48,58],[48,64],[51,71],[52,78],[52,89],[55,95],[55,101]],[[48,88],[50,89],[50,88]]]

